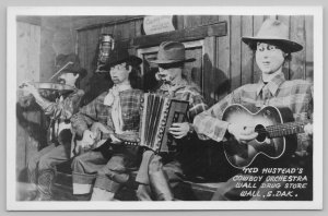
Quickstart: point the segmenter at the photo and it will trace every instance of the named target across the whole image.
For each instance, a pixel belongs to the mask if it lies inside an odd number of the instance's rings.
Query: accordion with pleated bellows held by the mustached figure
[[[176,145],[168,129],[174,122],[186,121],[189,103],[156,94],[144,94],[140,146],[155,153],[171,152]]]

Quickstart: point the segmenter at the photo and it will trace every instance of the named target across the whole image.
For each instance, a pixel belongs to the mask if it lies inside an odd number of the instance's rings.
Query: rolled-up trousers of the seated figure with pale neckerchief
[[[72,163],[73,193],[92,192],[92,185],[116,193],[128,182],[130,172],[140,163],[139,147],[105,143],[84,153]]]

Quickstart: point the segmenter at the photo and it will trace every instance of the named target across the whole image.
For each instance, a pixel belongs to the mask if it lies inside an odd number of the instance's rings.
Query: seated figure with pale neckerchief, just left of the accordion
[[[139,137],[143,92],[134,87],[139,84],[141,62],[127,49],[114,49],[106,65],[114,86],[71,119],[80,140],[72,163],[73,194],[79,200],[90,199],[90,193],[92,201],[114,200],[121,184],[129,180],[129,171],[141,160],[139,146],[122,144]],[[89,149],[81,154],[83,148]]]

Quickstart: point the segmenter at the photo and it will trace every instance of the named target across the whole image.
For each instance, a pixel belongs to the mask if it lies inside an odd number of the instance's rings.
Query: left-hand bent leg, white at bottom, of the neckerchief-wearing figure
[[[72,161],[73,194],[91,193],[97,170],[106,163],[101,152],[91,151],[75,157]]]

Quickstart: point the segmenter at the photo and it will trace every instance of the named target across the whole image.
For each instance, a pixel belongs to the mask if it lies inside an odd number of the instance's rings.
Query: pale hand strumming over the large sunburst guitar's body
[[[244,127],[242,124],[231,123],[227,125],[227,132],[235,136],[236,141],[247,143],[257,137],[258,133],[253,127]]]

